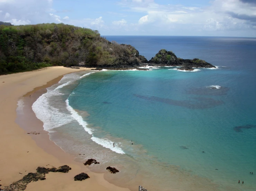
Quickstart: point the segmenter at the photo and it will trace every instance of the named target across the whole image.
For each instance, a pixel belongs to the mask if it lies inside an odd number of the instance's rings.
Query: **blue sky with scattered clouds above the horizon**
[[[0,0],[0,21],[101,35],[256,37],[256,0]]]

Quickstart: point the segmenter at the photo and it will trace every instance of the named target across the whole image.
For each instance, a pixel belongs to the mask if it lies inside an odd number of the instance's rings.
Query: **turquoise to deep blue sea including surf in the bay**
[[[118,167],[105,178],[131,190],[255,191],[256,38],[106,39],[148,60],[167,49],[217,69],[68,74],[33,105],[51,140],[74,156],[86,153],[78,161],[101,160],[100,172]]]

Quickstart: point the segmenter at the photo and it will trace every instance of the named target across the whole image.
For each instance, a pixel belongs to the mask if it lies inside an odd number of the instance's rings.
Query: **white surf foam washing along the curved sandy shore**
[[[94,72],[91,72],[94,73]],[[78,80],[79,78],[83,78],[91,73],[84,74],[83,76],[79,76],[78,74],[66,74],[60,81],[60,83],[63,83],[61,85],[55,84],[49,88],[47,88],[47,92],[44,93],[42,96],[40,96],[32,105],[32,109],[34,113],[36,114],[36,117],[43,122],[44,130],[48,132],[55,132],[52,129],[60,127],[64,124],[68,124],[70,122],[73,122],[76,120],[88,134],[92,134],[92,129],[87,127],[87,122],[83,121],[82,117],[69,105],[69,100],[67,99],[65,101],[66,103],[66,109],[71,113],[67,114],[67,110],[63,112],[63,105],[62,103],[56,103],[53,105],[49,102],[51,97],[53,96],[59,96],[62,95],[62,93],[59,92],[59,90],[67,86],[73,81]],[[57,86],[57,87],[56,87]],[[74,92],[72,92],[74,94]],[[55,98],[53,98],[55,99]],[[23,100],[19,100],[17,103],[18,107],[17,109],[23,109],[24,103]],[[59,108],[58,108],[59,107]],[[65,107],[64,107],[65,108]],[[103,138],[97,138],[92,137],[92,141],[96,142],[99,145],[102,145],[105,148],[108,148],[116,153],[119,154],[125,154],[125,152],[118,147],[118,144],[115,144],[115,148],[113,147],[113,142],[108,139]],[[120,143],[119,143],[120,144]]]

